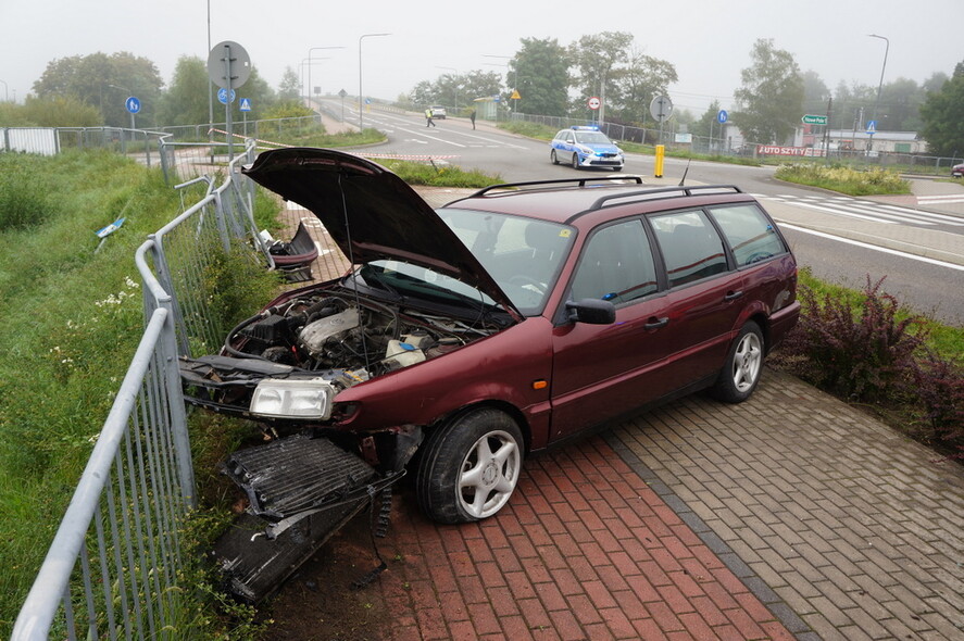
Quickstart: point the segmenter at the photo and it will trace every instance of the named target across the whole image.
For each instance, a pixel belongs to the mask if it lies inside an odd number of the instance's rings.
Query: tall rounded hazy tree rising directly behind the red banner
[[[740,72],[742,87],[734,91],[739,109],[733,114],[751,142],[784,142],[803,115],[803,77],[793,55],[761,38],[750,52],[752,64]]]

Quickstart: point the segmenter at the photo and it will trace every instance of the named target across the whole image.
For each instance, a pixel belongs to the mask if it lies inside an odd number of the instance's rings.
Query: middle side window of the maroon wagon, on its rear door
[[[702,211],[650,217],[669,287],[686,285],[727,271],[723,240]]]

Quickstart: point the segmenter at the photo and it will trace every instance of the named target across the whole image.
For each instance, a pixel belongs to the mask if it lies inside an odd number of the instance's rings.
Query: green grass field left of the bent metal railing
[[[185,194],[186,202],[200,194]],[[259,199],[260,218],[271,216],[271,202]],[[109,152],[0,154],[0,211],[12,210],[28,215],[0,223],[2,637],[10,633],[140,340],[135,250],[180,211],[180,199],[160,169]],[[125,224],[97,251],[95,231],[122,213]],[[250,279],[243,285],[252,287]],[[262,290],[234,299],[250,311],[252,300],[267,296]],[[217,447],[203,436],[198,444]]]

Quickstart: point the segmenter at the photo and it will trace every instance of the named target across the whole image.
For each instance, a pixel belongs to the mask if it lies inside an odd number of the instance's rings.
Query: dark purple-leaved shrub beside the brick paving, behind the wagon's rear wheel
[[[909,436],[964,458],[964,365],[928,349],[926,318],[903,314],[882,282],[867,276],[855,297],[818,296],[801,284],[800,322],[772,362],[838,398],[873,404]]]

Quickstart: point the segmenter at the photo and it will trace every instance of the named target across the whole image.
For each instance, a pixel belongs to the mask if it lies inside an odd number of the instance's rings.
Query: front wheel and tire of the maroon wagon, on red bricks
[[[509,502],[522,458],[511,416],[491,407],[463,414],[429,437],[415,476],[418,505],[437,523],[488,518]]]

